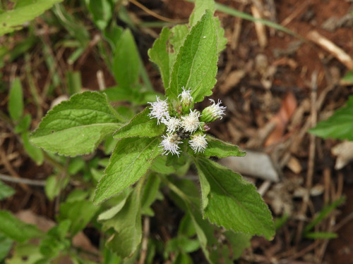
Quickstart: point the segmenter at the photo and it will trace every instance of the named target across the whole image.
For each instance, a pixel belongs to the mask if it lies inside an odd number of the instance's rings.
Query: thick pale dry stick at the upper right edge
[[[353,60],[352,60],[351,56],[349,56],[343,49],[341,49],[340,47],[335,45],[329,39],[326,39],[325,37],[323,37],[316,30],[309,32],[306,35],[306,37],[309,40],[311,40],[311,42],[318,44],[318,46],[321,46],[321,48],[330,52],[330,54],[335,56],[335,58],[337,58],[338,61],[340,61],[341,63],[346,65],[348,70],[351,70],[353,68]]]

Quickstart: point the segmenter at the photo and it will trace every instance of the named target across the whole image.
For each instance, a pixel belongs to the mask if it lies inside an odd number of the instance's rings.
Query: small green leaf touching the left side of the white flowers
[[[149,108],[145,108],[144,111],[138,113],[133,119],[124,127],[119,128],[114,133],[115,139],[121,139],[123,137],[156,137],[165,131],[165,125],[157,125],[157,119],[150,118]]]

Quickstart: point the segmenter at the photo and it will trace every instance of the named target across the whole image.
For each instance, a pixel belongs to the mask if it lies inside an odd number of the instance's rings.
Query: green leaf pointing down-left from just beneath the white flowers
[[[112,153],[104,175],[95,190],[94,203],[99,204],[119,194],[145,175],[153,160],[162,152],[160,137],[121,139]]]

